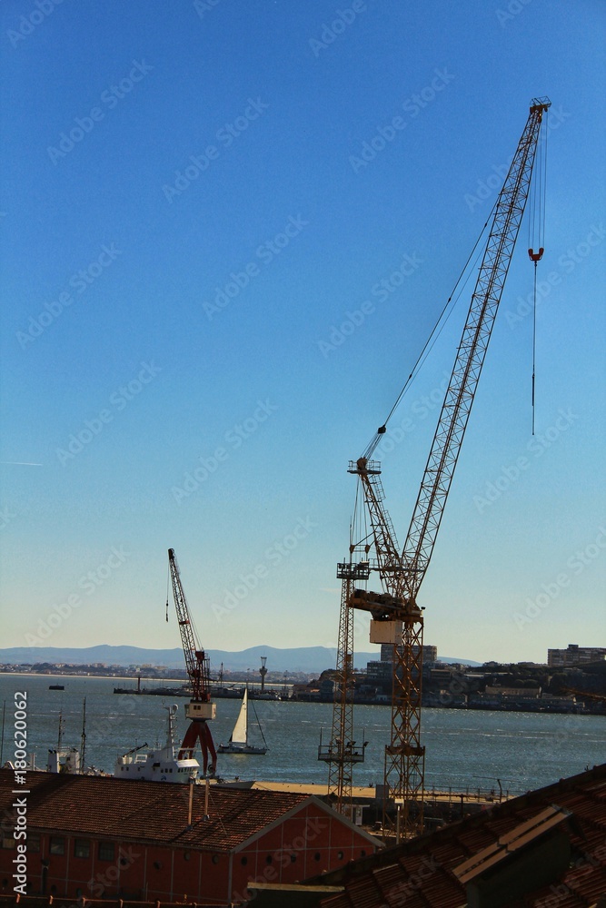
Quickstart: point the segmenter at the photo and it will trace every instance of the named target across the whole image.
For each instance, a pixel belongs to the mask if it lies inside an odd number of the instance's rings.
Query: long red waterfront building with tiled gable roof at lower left
[[[381,847],[313,795],[37,772],[26,781],[27,894],[47,900],[227,905],[253,880],[293,883]],[[6,894],[20,854],[14,788],[14,771],[0,770]]]

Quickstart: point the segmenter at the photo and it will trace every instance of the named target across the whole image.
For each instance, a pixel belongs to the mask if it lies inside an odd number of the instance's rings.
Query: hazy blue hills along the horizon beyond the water
[[[209,649],[211,664],[217,669],[223,662],[228,671],[245,671],[258,668],[261,656],[267,656],[267,668],[270,672],[306,672],[320,674],[326,668],[333,668],[336,661],[336,650],[328,646],[301,646],[295,649],[276,649],[273,646],[251,646],[240,652],[230,653],[224,649]],[[356,653],[354,665],[364,668],[367,662],[379,658],[374,653]],[[441,656],[441,662],[462,662],[468,666],[478,666],[479,662],[469,659]],[[108,666],[167,666],[168,668],[184,667],[183,650],[175,649],[142,649],[139,646],[88,646],[83,649],[71,649],[62,646],[15,646],[12,649],[0,649],[0,663],[21,665],[36,662],[66,662],[73,665],[90,665],[94,662]]]

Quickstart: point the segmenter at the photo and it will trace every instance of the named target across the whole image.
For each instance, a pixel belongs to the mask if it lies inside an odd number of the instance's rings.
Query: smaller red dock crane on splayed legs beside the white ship
[[[216,716],[216,704],[211,702],[211,660],[200,646],[195,633],[181,583],[179,566],[174,555],[174,548],[168,549],[168,569],[173,584],[174,607],[177,613],[179,631],[181,632],[185,667],[192,685],[192,699],[185,706],[185,716],[190,720],[190,725],[185,732],[183,744],[179,751],[179,759],[193,758],[196,742],[199,741],[204,775],[206,775],[207,771],[210,775],[214,775],[217,755],[214,749],[213,735],[211,735],[211,730],[207,724]],[[168,615],[168,597],[166,598],[166,614]]]

